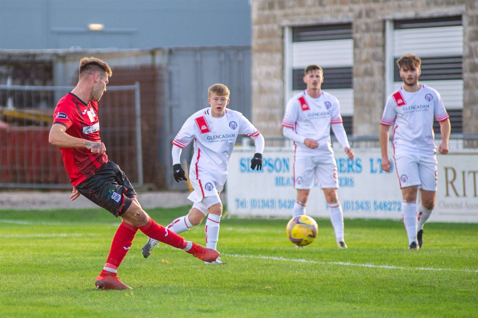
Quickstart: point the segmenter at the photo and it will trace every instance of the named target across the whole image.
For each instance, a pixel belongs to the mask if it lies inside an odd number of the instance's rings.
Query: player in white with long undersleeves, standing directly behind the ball
[[[330,209],[337,246],[347,248],[344,240],[344,216],[338,201],[337,164],[330,142],[330,127],[349,159],[354,158],[340,115],[340,104],[335,96],[322,91],[324,71],[318,65],[305,68],[307,89],[294,96],[287,104],[282,120],[284,136],[294,144],[294,187],[297,199],[293,216],[304,215],[314,176]]]

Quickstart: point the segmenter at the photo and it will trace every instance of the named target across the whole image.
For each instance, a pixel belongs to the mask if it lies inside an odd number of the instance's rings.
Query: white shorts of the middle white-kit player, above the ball
[[[337,163],[334,157],[307,156],[294,159],[294,187],[311,189],[314,177],[321,188],[338,189]]]

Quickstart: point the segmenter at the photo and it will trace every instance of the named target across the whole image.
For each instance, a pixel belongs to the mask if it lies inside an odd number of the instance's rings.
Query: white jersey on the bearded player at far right
[[[393,127],[394,153],[435,153],[433,117],[438,122],[449,118],[440,93],[422,84],[416,92],[400,87],[385,103],[381,124]]]

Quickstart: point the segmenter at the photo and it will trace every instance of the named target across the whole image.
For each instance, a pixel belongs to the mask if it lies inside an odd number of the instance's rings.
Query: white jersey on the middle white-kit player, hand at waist
[[[307,91],[295,95],[285,110],[282,126],[294,129],[298,135],[314,139],[315,149],[305,144],[296,145],[296,156],[333,155],[330,142],[330,124],[342,123],[337,97],[322,91],[319,97],[311,97]]]

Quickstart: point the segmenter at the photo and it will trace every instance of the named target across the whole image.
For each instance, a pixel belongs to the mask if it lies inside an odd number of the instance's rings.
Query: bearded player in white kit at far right
[[[440,123],[440,154],[448,154],[450,120],[440,94],[418,82],[421,60],[415,54],[403,55],[397,65],[403,86],[387,98],[380,122],[382,170],[390,172],[388,157],[389,129],[393,125],[393,159],[402,189],[403,223],[409,249],[423,244],[423,226],[435,207],[437,161],[433,117]],[[418,205],[417,189],[421,202]],[[417,233],[418,230],[418,233]]]

